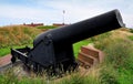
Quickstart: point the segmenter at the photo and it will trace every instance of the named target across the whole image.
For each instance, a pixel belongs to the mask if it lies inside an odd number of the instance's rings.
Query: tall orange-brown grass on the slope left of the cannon
[[[0,28],[0,49],[32,43],[41,30],[23,25]]]

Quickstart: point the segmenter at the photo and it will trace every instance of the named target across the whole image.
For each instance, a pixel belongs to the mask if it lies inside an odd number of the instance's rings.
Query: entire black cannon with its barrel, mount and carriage
[[[59,70],[66,72],[79,65],[73,54],[73,43],[124,27],[119,10],[112,10],[84,21],[60,27],[39,34],[33,48],[11,49],[14,63],[18,59],[34,72]]]

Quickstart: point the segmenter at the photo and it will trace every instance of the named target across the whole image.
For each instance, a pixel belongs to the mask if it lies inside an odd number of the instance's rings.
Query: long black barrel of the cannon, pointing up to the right
[[[55,45],[72,44],[124,25],[119,10],[115,9],[74,24],[44,32],[37,36],[33,45],[39,43],[45,36],[50,36]]]

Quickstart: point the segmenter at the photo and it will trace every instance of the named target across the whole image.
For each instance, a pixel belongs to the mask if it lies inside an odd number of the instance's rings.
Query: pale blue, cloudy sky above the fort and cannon
[[[0,0],[0,27],[23,23],[75,23],[119,9],[133,28],[133,0]],[[63,13],[63,10],[65,11]]]

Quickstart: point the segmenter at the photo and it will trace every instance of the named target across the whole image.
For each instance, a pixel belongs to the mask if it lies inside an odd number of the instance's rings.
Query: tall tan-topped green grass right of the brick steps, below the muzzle
[[[133,84],[133,41],[124,33],[116,33],[95,42],[105,53],[100,78],[102,84]]]

